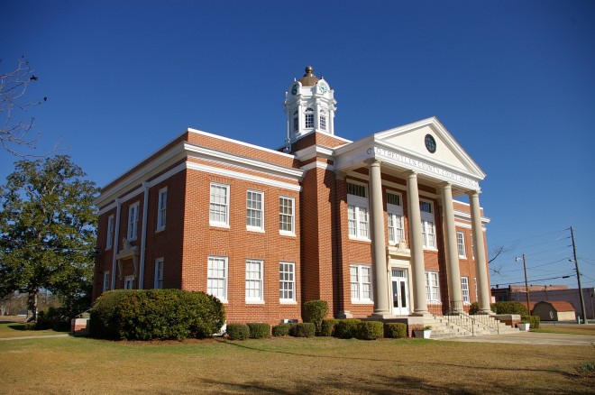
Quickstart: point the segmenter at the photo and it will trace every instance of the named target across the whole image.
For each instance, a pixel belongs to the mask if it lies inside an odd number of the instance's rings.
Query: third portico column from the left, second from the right
[[[454,226],[453,187],[451,184],[442,186],[442,200],[444,213],[444,238],[446,239],[446,269],[448,283],[451,289],[451,311],[462,312],[461,271],[459,269],[459,249],[457,247],[456,227]]]

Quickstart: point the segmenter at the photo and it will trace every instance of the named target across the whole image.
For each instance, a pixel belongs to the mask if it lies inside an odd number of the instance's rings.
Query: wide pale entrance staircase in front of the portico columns
[[[448,337],[469,337],[517,333],[518,329],[507,326],[490,315],[468,315],[459,313],[451,316],[426,316],[424,325],[432,326],[433,339]]]

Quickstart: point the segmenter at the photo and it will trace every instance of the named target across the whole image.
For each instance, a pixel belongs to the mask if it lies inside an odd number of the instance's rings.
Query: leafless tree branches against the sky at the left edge
[[[0,66],[2,66],[2,60],[0,60]],[[14,69],[7,73],[0,73],[0,117],[4,118],[0,125],[0,142],[7,152],[15,156],[39,157],[58,149],[56,145],[50,152],[41,155],[22,152],[22,149],[34,150],[40,136],[40,133],[31,136],[35,117],[28,115],[27,112],[32,106],[39,106],[48,99],[43,97],[39,101],[28,101],[25,98],[27,87],[37,79],[24,57],[17,60]]]

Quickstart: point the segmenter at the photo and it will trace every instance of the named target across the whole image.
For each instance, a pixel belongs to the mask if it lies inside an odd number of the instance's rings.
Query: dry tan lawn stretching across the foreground
[[[0,342],[4,393],[592,393],[587,346],[279,337]],[[34,363],[32,363],[34,361]]]

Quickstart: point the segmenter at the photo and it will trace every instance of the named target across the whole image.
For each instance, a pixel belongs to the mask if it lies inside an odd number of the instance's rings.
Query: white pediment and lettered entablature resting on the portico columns
[[[435,152],[426,148],[426,136]],[[413,170],[426,179],[446,181],[462,189],[478,189],[485,173],[435,117],[374,133],[334,151],[335,169],[349,171],[376,159],[398,170]]]

